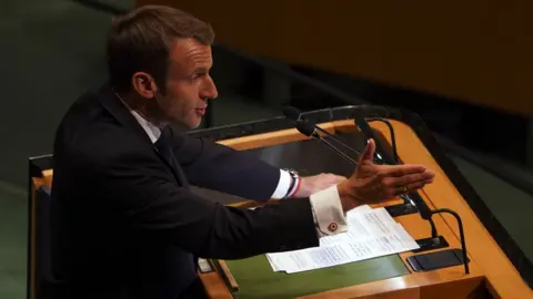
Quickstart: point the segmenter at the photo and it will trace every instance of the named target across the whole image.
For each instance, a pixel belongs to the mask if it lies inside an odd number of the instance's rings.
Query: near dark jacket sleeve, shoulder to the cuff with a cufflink
[[[309,198],[225,207],[180,187],[157,155],[134,147],[86,162],[93,165],[86,174],[95,199],[139,238],[222,259],[318,246]]]

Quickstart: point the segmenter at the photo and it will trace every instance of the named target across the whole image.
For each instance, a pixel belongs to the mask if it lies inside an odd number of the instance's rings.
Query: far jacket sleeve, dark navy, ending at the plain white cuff
[[[270,199],[280,168],[251,153],[234,151],[205,138],[180,135],[174,153],[192,185],[249,199]]]

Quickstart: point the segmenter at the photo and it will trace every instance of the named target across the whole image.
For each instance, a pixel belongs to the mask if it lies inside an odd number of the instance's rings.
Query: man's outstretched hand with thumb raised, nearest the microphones
[[[344,212],[366,204],[378,204],[414,192],[435,176],[421,165],[376,165],[375,143],[369,142],[353,175],[338,185]]]

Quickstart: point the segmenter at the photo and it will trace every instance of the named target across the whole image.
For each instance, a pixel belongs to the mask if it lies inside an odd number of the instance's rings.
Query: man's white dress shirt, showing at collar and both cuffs
[[[135,111],[131,111],[131,114],[133,114],[142,128],[144,128],[152,143],[155,143],[161,136],[161,130]],[[291,175],[280,169],[280,181],[271,198],[282,199],[288,194],[291,183]],[[298,200],[298,198],[291,200]],[[310,200],[319,237],[335,235],[348,230],[346,219],[342,210],[341,198],[339,197],[336,186],[331,186],[311,195]]]

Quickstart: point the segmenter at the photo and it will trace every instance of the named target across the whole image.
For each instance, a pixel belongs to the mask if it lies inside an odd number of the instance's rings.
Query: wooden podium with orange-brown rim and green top
[[[532,283],[531,261],[524,260],[521,250],[513,245],[511,238],[499,226],[490,210],[461,176],[453,163],[442,152],[438,142],[424,124],[405,111],[396,111],[375,106],[346,106],[333,110],[305,113],[305,118],[319,123],[332,134],[343,136],[358,143],[362,133],[353,121],[355,115],[382,117],[390,122],[394,130],[398,155],[403,163],[422,164],[434,171],[434,183],[424,187],[420,195],[431,208],[450,208],[456,212],[464,226],[470,274],[465,274],[464,265],[440,268],[431,271],[414,271],[406,262],[413,255],[424,255],[438,250],[461,248],[456,220],[449,215],[434,215],[438,234],[447,241],[446,248],[424,251],[403,252],[400,255],[375,258],[361,262],[320,269],[303,274],[285,275],[273,272],[264,256],[232,261],[211,261],[211,271],[201,272],[201,279],[211,298],[533,298],[529,287]],[[389,127],[381,122],[370,123],[374,132],[383,141],[391,142]],[[191,132],[191,135],[217,140],[239,151],[255,151],[261,154],[265,148],[276,148],[283,153],[282,146],[292,146],[296,152],[300,145],[311,146],[305,136],[291,128],[284,117],[275,117],[245,124],[238,124],[211,130]],[[314,142],[314,141],[313,141]],[[361,145],[361,144],[360,144]],[[322,146],[316,143],[312,146]],[[316,147],[318,148],[318,147]],[[301,150],[301,148],[300,148]],[[320,150],[322,151],[322,150]],[[305,150],[300,152],[313,155]],[[315,153],[316,154],[316,153]],[[325,157],[318,153],[318,164],[330,167],[342,163],[333,156]],[[264,156],[263,156],[264,158]],[[42,281],[38,265],[40,248],[38,227],[39,196],[37,190],[49,186],[52,169],[47,166],[50,156],[30,159],[30,262],[29,297],[39,297]],[[295,161],[299,158],[291,158]],[[309,164],[309,163],[308,163]],[[294,166],[294,165],[280,165]],[[298,167],[298,165],[296,165]],[[306,165],[300,165],[305,168]],[[352,166],[342,166],[344,172]],[[313,172],[329,172],[314,169]],[[303,169],[305,175],[305,169]],[[386,206],[398,205],[402,200],[392,200]],[[242,207],[254,203],[242,199],[229,199],[228,204]],[[420,214],[409,214],[394,218],[414,239],[431,237],[429,221]],[[487,227],[490,229],[487,229]],[[500,247],[499,244],[505,246]],[[513,262],[515,265],[513,265]],[[519,262],[520,261],[520,262]],[[222,266],[220,266],[222,265]],[[520,270],[520,271],[519,271]]]

